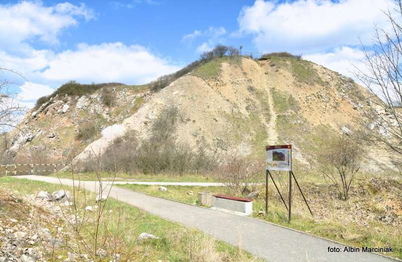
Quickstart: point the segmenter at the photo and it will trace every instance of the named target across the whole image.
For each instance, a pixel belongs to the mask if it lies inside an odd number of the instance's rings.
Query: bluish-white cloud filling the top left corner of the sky
[[[22,43],[39,39],[48,44],[57,44],[59,33],[68,27],[76,26],[77,19],[86,21],[96,17],[93,10],[84,4],[75,6],[61,3],[46,7],[42,2],[22,1],[15,5],[0,5],[0,48],[19,51],[27,47]]]

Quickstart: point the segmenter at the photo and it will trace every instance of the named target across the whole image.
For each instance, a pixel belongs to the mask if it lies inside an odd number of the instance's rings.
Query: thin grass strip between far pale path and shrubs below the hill
[[[57,172],[51,174],[52,177],[71,179],[71,172]],[[95,181],[97,180],[96,173],[94,172],[82,172],[74,175],[76,179],[83,181]],[[104,172],[101,175],[103,181],[113,180],[113,176],[110,173]],[[129,174],[129,173],[117,173],[115,181],[145,181],[145,182],[218,182],[218,180],[211,175],[200,174],[183,174],[181,176],[177,174]]]

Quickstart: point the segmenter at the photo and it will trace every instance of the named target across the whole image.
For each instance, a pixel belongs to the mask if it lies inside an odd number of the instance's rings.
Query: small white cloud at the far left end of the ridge
[[[27,108],[33,108],[38,98],[52,94],[54,89],[48,85],[25,82],[20,86],[19,97],[21,104]]]

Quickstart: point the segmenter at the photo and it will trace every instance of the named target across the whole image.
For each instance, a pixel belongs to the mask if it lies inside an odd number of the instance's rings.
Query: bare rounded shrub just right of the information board
[[[364,148],[358,140],[343,134],[331,141],[318,157],[320,172],[333,184],[343,200],[349,198],[353,179],[362,166]]]

